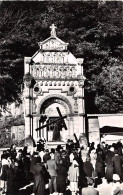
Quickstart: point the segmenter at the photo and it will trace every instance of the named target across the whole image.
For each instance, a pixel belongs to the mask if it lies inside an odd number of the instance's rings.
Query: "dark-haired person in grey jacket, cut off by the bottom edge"
[[[82,188],[82,195],[99,195],[99,192],[94,189],[94,180],[88,178],[88,187]]]

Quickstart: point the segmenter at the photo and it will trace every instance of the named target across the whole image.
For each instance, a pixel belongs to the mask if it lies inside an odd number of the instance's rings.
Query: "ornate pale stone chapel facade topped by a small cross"
[[[66,141],[74,133],[85,133],[83,58],[68,50],[54,24],[50,29],[50,37],[38,43],[39,50],[24,59],[25,138]]]

